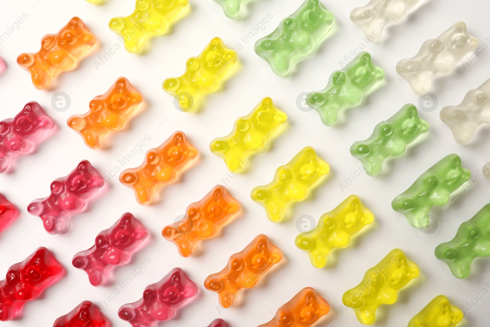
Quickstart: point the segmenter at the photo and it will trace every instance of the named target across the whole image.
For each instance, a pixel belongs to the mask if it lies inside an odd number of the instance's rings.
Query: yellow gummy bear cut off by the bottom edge
[[[443,296],[437,296],[417,313],[408,327],[455,327],[463,320],[463,312]]]

